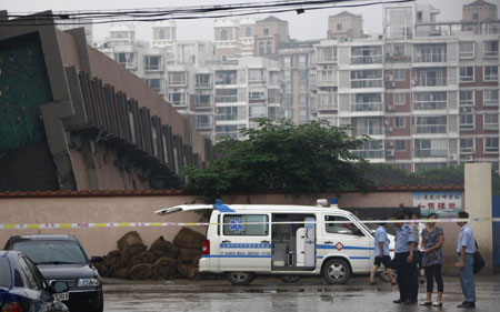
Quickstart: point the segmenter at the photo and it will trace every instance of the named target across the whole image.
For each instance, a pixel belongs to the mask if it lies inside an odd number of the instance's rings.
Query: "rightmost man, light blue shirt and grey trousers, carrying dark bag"
[[[469,213],[464,211],[459,212],[460,219],[468,219]],[[474,233],[467,222],[457,222],[460,227],[460,235],[457,244],[458,262],[457,266],[460,269],[460,285],[466,301],[458,308],[476,308],[476,285],[474,285]]]

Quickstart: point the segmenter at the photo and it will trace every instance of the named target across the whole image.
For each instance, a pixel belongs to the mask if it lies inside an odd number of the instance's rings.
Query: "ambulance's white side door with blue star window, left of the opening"
[[[220,235],[220,270],[271,270],[269,213],[223,213]],[[258,224],[249,224],[249,223]]]

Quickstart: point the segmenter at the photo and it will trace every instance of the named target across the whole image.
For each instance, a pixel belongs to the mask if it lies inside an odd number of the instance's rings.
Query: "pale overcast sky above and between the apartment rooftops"
[[[182,6],[210,6],[223,3],[249,3],[262,2],[262,0],[0,0],[1,9],[12,12],[38,12],[43,10],[109,10],[109,9],[137,9],[140,8],[172,8]],[[451,21],[461,19],[462,6],[471,3],[473,0],[418,0],[422,3],[431,3],[441,11],[440,21]],[[488,0],[491,3],[499,0]],[[293,39],[323,39],[327,33],[328,17],[337,14],[346,9],[324,9],[317,11],[306,11],[298,16],[294,12],[279,13],[276,17],[288,20],[290,26],[290,37]],[[363,28],[367,33],[381,33],[382,31],[382,6],[376,4],[363,8],[348,9],[356,14],[362,14]],[[256,16],[264,18],[266,16]],[[178,40],[213,40],[213,20],[190,20],[177,21]],[[151,40],[151,24],[147,22],[136,24],[138,39]],[[108,36],[109,24],[96,26],[94,40],[100,41]]]

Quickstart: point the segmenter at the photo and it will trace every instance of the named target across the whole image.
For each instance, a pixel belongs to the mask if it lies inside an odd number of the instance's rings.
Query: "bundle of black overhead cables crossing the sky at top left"
[[[273,1],[236,3],[222,6],[201,6],[183,8],[149,8],[137,10],[112,10],[112,11],[60,11],[37,13],[26,16],[20,13],[8,14],[8,18],[18,18],[8,23],[0,22],[0,26],[83,26],[101,24],[113,22],[153,22],[162,20],[197,20],[197,19],[220,19],[228,17],[242,17],[263,13],[282,13],[334,9],[334,8],[357,8],[376,6],[383,3],[404,3],[416,0],[313,0],[313,1]],[[356,2],[356,3],[352,3]],[[18,21],[18,22],[16,22]],[[31,23],[30,23],[31,22]]]

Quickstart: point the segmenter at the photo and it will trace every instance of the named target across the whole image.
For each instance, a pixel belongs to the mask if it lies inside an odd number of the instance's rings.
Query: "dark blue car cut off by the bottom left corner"
[[[46,283],[22,252],[0,250],[0,311],[68,312],[53,296],[67,291],[66,282]]]

